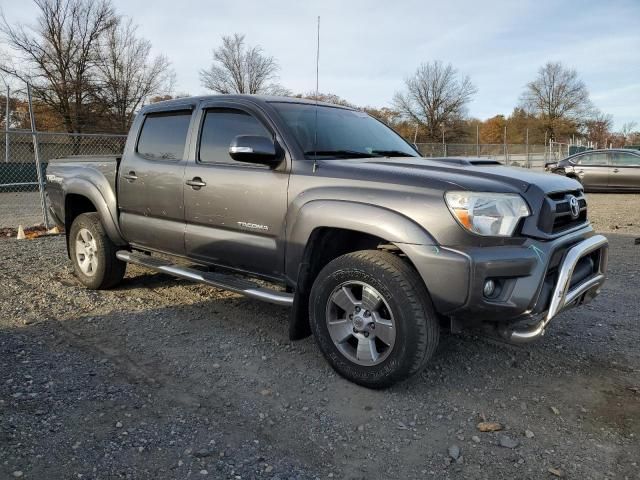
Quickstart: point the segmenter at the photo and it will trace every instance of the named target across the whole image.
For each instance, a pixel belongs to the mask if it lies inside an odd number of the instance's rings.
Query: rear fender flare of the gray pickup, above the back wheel
[[[116,245],[126,245],[127,242],[122,236],[118,225],[118,207],[115,194],[111,188],[104,190],[84,178],[71,178],[64,185],[64,204],[66,205],[67,195],[69,194],[82,195],[87,198],[96,207],[100,221],[111,241]],[[64,216],[66,221],[66,211]]]

